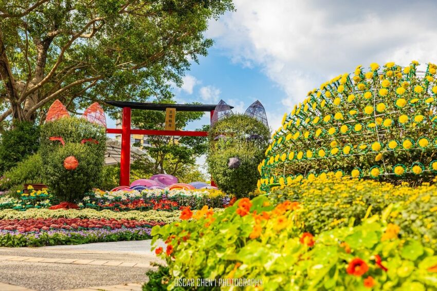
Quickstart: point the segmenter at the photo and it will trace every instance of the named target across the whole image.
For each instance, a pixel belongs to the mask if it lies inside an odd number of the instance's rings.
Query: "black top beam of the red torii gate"
[[[165,104],[165,103],[150,103],[150,102],[128,102],[128,101],[113,101],[107,100],[106,104],[117,106],[120,108],[130,107],[132,109],[160,110],[166,111],[166,108],[176,108],[176,111],[213,111],[213,104]],[[229,106],[233,108],[233,106]]]

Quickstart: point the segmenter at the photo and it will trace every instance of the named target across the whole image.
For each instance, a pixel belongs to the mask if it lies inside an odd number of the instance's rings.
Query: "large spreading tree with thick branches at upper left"
[[[169,99],[232,0],[0,0],[0,122],[102,99]]]

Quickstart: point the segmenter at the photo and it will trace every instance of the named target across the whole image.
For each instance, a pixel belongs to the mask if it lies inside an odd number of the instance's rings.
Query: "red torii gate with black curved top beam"
[[[130,185],[131,171],[131,134],[144,135],[170,135],[170,136],[188,136],[188,137],[207,137],[208,131],[188,131],[188,130],[154,130],[154,129],[131,129],[131,111],[132,109],[142,110],[160,110],[166,111],[167,108],[176,108],[177,111],[199,111],[211,112],[210,119],[214,114],[216,105],[198,105],[198,104],[159,104],[146,102],[124,102],[124,101],[105,101],[119,108],[122,108],[121,129],[107,128],[106,133],[121,134],[121,156],[120,156],[120,186]],[[233,108],[232,106],[229,106]],[[211,185],[214,182],[211,181]],[[214,185],[213,185],[214,186]]]

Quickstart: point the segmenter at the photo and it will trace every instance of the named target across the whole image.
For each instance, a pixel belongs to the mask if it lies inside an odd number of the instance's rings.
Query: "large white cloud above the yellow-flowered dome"
[[[284,90],[287,97],[276,104],[286,107],[277,109],[281,112],[357,65],[437,63],[437,3],[432,1],[234,3],[237,11],[211,22],[208,36],[234,62],[260,66]]]

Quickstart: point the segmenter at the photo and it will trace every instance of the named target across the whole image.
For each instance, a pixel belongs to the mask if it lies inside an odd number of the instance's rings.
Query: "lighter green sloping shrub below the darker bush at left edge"
[[[0,188],[22,190],[23,184],[43,183],[42,179],[43,161],[39,153],[32,154],[19,162],[15,167],[5,172],[0,180]]]

